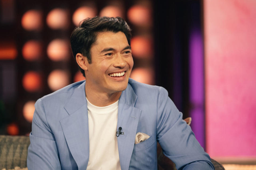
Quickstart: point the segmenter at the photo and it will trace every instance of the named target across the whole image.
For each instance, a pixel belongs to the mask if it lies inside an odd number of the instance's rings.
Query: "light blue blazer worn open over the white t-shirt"
[[[157,141],[177,169],[214,169],[209,155],[162,87],[129,79],[119,98],[119,127],[124,132],[117,138],[122,170],[157,169]],[[138,132],[150,138],[134,145]],[[86,169],[89,129],[85,81],[37,100],[30,142],[28,169]]]

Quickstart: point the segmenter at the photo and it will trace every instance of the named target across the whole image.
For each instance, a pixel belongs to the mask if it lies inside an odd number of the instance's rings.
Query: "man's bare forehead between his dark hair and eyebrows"
[[[106,48],[110,46],[127,46],[128,41],[125,34],[121,31],[119,32],[99,32],[96,36],[96,41],[93,46],[98,46],[98,48]]]

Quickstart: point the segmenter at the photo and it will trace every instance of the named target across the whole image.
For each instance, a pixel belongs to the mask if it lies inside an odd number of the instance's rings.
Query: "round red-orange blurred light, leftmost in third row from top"
[[[37,91],[41,88],[41,76],[35,71],[28,71],[22,78],[22,85],[29,92]]]

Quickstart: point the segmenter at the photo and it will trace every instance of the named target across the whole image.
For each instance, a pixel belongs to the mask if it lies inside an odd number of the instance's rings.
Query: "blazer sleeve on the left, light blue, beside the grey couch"
[[[33,169],[61,169],[58,148],[53,133],[47,123],[41,99],[35,103],[30,145],[27,154],[27,167]]]

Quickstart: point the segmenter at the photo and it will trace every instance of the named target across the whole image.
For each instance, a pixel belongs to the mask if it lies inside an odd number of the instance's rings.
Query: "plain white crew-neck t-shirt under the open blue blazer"
[[[87,170],[121,170],[116,137],[118,101],[98,107],[87,100],[87,108],[90,148]]]

